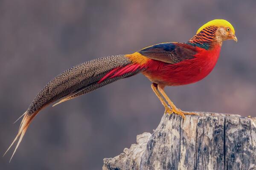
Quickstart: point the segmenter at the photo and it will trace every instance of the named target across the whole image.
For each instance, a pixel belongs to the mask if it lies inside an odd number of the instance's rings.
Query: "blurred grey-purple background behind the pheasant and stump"
[[[90,59],[131,54],[160,42],[186,42],[204,23],[223,18],[238,43],[224,42],[212,73],[200,82],[167,87],[184,111],[256,116],[256,1],[1,0],[0,153],[15,137],[34,96],[53,77]],[[9,164],[0,169],[102,168],[136,135],[155,129],[163,105],[143,75],[41,111]]]

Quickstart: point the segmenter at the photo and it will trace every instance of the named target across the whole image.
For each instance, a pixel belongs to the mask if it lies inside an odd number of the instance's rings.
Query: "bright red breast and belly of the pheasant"
[[[198,49],[194,59],[176,64],[168,64],[157,60],[149,60],[148,69],[143,74],[152,82],[163,85],[186,85],[206,77],[215,67],[220,47],[213,50]]]

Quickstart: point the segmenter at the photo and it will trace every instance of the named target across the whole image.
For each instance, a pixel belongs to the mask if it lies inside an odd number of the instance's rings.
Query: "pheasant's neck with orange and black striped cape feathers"
[[[218,39],[216,32],[218,30],[217,26],[209,26],[204,28],[194,37],[192,37],[186,44],[192,45],[194,47],[204,48],[210,50],[215,45],[222,45],[222,40]]]

